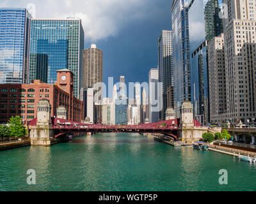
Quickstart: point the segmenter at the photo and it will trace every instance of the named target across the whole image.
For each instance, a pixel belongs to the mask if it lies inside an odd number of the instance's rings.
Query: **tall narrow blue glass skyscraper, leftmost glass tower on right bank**
[[[171,9],[173,92],[177,108],[180,108],[183,101],[191,101],[188,6],[188,0],[173,0]]]

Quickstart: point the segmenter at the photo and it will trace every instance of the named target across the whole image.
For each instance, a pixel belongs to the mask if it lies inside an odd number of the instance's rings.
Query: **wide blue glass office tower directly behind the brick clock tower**
[[[29,52],[29,80],[56,81],[56,70],[70,69],[74,73],[74,96],[81,88],[81,56],[84,31],[80,19],[33,18]],[[40,75],[47,69],[47,78]]]

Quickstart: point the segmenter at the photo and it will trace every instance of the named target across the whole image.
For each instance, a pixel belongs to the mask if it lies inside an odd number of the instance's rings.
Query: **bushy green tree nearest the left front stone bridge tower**
[[[10,125],[10,136],[17,138],[25,136],[26,128],[22,125],[22,119],[19,116],[12,116],[8,124]]]

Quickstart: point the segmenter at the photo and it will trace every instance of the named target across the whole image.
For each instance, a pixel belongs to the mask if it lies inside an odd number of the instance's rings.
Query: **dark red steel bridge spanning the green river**
[[[194,120],[194,125],[201,126],[197,120]],[[36,118],[31,120],[29,126],[36,126]],[[55,138],[72,133],[161,133],[177,140],[180,119],[132,126],[106,126],[52,118],[52,128],[54,129]]]

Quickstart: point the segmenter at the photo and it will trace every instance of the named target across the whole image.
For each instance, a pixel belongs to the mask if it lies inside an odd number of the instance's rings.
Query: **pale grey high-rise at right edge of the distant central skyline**
[[[158,106],[158,69],[150,69],[148,73],[148,85],[149,85],[149,96],[148,96],[148,105],[149,105],[149,122],[158,122],[159,121],[159,110]]]

